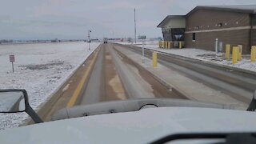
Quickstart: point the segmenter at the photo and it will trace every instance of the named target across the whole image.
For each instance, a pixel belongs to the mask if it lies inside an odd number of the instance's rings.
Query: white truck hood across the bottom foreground
[[[0,131],[1,143],[146,143],[168,134],[253,132],[256,114],[191,107],[148,108]]]

